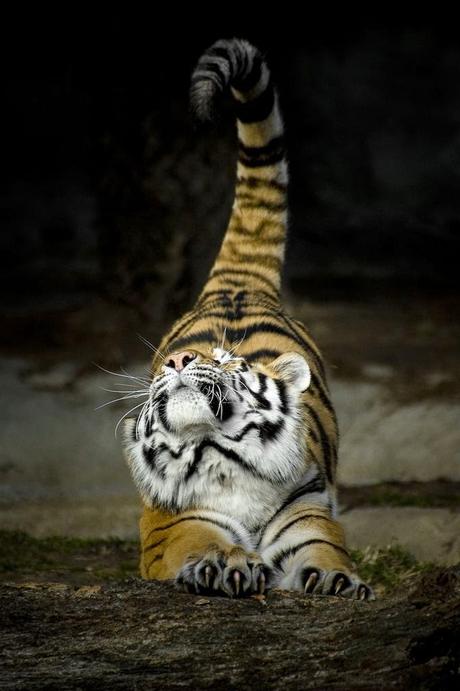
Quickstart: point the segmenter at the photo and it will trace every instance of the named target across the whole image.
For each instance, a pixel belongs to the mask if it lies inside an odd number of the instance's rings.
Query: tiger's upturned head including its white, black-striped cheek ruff
[[[222,348],[167,356],[126,426],[128,463],[144,500],[184,509],[202,500],[214,476],[227,484],[242,473],[248,481],[292,478],[304,457],[301,397],[309,384],[308,364],[294,352],[268,365]]]

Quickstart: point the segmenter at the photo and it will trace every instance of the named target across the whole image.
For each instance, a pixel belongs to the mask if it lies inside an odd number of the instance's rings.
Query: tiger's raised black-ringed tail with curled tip
[[[278,95],[261,53],[247,41],[217,41],[192,75],[191,104],[212,119],[231,89],[238,126],[235,200],[201,298],[223,289],[257,290],[278,299],[287,226],[287,161]]]

